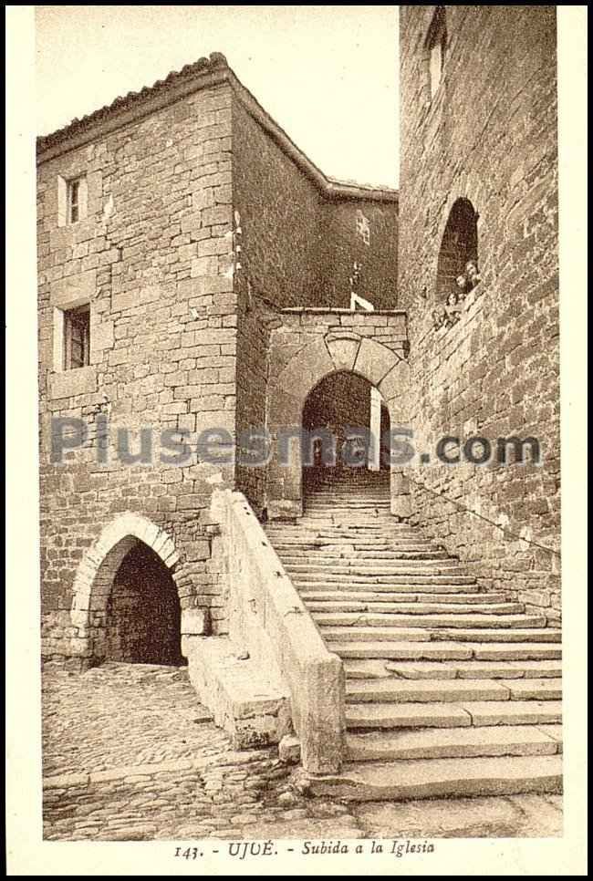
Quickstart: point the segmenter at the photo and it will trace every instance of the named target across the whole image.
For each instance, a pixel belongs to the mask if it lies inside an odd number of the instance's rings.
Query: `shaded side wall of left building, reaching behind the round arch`
[[[233,207],[241,228],[235,293],[237,432],[242,435],[266,424],[268,346],[275,310],[349,308],[354,261],[363,264],[359,293],[369,295],[377,307],[393,306],[397,202],[327,198],[235,98]],[[261,513],[267,470],[239,463],[236,478],[238,488]]]

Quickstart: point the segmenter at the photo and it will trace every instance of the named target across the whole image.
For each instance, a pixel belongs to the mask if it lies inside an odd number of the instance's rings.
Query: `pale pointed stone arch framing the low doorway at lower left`
[[[123,513],[109,523],[78,565],[70,611],[72,652],[88,662],[103,657],[111,586],[124,557],[139,543],[159,557],[174,579],[179,555],[172,536],[138,513]]]

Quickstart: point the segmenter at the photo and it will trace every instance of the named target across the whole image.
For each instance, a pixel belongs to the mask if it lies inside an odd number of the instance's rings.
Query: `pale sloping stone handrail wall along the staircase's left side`
[[[304,769],[336,772],[344,741],[341,659],[326,648],[243,493],[215,492],[212,514],[221,524],[229,636],[284,677]]]

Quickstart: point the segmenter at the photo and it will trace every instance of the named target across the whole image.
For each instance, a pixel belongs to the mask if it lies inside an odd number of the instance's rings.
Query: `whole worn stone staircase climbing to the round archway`
[[[561,637],[545,617],[396,522],[381,474],[317,485],[297,523],[266,532],[346,672],[346,761],[313,793],[561,791]]]

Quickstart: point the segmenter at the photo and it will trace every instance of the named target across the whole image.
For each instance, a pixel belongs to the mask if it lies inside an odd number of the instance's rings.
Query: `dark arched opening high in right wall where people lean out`
[[[441,250],[437,264],[436,296],[445,302],[452,295],[460,295],[463,289],[456,279],[466,272],[466,264],[478,263],[478,215],[469,199],[453,202],[447,225],[442,234]]]

